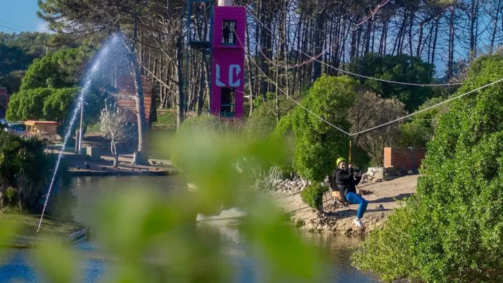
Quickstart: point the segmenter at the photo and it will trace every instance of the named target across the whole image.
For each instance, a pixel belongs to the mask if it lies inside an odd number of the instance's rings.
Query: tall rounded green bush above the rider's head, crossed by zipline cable
[[[347,113],[354,104],[357,81],[350,77],[323,76],[316,80],[302,101],[305,108],[337,127],[349,132]],[[348,156],[349,138],[296,106],[292,117],[295,133],[295,168],[305,179],[321,181],[335,167],[339,156]]]

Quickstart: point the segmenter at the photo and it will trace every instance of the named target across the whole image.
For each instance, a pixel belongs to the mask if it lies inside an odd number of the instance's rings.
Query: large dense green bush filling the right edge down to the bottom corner
[[[503,57],[478,60],[464,93],[503,77]],[[354,255],[385,280],[499,282],[503,276],[503,84],[452,102],[428,143],[417,197]]]

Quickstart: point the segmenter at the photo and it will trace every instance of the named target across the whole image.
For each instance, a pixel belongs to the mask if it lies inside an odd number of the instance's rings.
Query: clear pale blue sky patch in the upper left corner
[[[0,0],[0,31],[46,31],[44,21],[37,17],[37,0]]]

